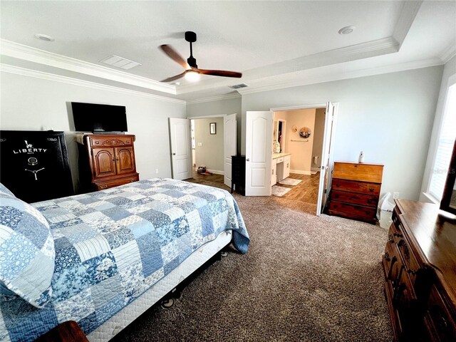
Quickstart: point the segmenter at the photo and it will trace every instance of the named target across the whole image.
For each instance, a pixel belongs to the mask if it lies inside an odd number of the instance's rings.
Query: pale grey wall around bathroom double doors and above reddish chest
[[[442,66],[378,76],[270,90],[242,96],[242,152],[245,113],[287,106],[339,103],[335,160],[385,165],[382,193],[418,199],[430,130],[434,121]]]

